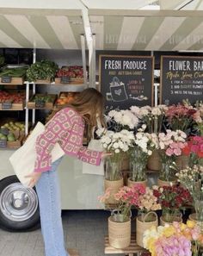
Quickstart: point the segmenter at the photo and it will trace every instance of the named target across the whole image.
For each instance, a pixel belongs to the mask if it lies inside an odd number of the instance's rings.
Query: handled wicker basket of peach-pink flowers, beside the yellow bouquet
[[[150,214],[155,217],[154,221],[145,222],[146,217],[149,216]],[[144,247],[143,234],[147,229],[151,228],[152,226],[155,226],[156,228],[158,226],[158,216],[157,216],[156,212],[151,211],[151,212],[147,213],[145,215],[143,221],[141,221],[141,216],[138,216],[136,218],[136,241],[137,241],[137,244],[139,247]]]

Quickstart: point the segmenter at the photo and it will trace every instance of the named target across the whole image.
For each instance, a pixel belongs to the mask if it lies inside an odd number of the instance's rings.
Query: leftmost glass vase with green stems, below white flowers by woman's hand
[[[105,159],[105,178],[111,181],[120,180],[122,178],[121,159],[111,157]]]

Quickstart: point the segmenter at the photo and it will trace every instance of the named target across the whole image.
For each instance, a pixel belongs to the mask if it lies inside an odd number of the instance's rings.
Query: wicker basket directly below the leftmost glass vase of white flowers
[[[114,199],[114,194],[117,193],[122,186],[123,178],[115,181],[104,179],[104,190],[106,191],[108,188],[111,188],[111,196],[106,203],[118,203],[118,201]]]

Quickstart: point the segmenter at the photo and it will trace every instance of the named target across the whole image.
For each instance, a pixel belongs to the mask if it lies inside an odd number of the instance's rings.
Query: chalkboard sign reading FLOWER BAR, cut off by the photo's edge
[[[160,103],[202,100],[203,57],[162,56],[160,85]]]

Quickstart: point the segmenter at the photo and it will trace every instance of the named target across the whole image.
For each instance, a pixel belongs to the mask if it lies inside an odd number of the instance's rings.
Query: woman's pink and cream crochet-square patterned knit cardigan
[[[100,165],[102,152],[83,147],[84,123],[82,116],[71,108],[61,109],[47,123],[46,130],[36,140],[37,158],[34,172],[51,170],[51,151],[58,142],[64,152],[92,165]]]

